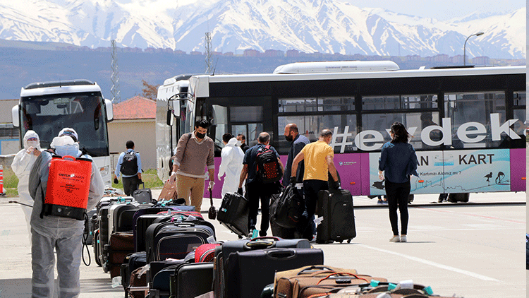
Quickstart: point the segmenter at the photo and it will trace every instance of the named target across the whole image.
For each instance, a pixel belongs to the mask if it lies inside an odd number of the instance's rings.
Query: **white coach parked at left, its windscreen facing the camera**
[[[28,130],[35,131],[42,148],[64,127],[75,129],[79,147],[93,157],[105,186],[111,186],[107,122],[114,119],[112,102],[97,83],[88,80],[31,83],[20,90],[20,102],[11,110],[20,145]]]

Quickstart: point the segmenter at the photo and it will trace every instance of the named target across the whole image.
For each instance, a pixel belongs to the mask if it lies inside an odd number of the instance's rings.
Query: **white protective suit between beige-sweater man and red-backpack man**
[[[219,167],[219,180],[226,173],[224,184],[222,184],[222,198],[224,198],[226,193],[237,192],[239,179],[241,178],[244,153],[241,147],[236,146],[237,142],[236,138],[231,138],[221,150],[222,160]]]

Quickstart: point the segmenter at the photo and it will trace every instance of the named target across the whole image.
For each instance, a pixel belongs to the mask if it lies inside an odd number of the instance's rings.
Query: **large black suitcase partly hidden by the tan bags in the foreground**
[[[321,249],[237,251],[226,263],[226,297],[260,298],[262,290],[274,282],[276,272],[311,265],[323,265]]]

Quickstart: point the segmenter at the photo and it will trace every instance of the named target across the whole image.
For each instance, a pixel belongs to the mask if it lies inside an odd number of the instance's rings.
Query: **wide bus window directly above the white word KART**
[[[445,117],[451,119],[452,146],[457,149],[461,148],[508,148],[509,136],[501,133],[501,140],[492,140],[491,135],[491,114],[499,114],[499,121],[506,121],[505,114],[505,93],[504,92],[487,92],[487,93],[456,93],[444,95]],[[459,126],[466,124],[468,121],[483,124],[487,133],[486,137],[477,143],[462,142],[457,131]],[[469,127],[468,130],[476,129]]]

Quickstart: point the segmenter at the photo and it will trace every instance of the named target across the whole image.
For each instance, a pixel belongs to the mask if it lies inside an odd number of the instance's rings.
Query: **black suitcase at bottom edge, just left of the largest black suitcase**
[[[169,278],[171,297],[195,298],[211,292],[213,262],[184,263]]]

